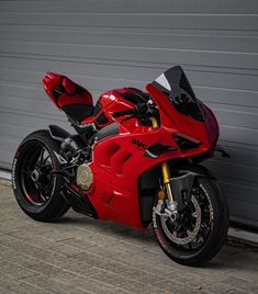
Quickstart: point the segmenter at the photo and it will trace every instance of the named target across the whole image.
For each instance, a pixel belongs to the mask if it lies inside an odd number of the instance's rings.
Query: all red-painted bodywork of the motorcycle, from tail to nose
[[[43,83],[46,92],[58,108],[71,103],[92,106],[91,94],[83,89],[76,93],[77,84],[60,75],[48,72]],[[65,88],[57,99],[55,88]],[[80,87],[81,89],[81,87]],[[141,176],[164,161],[212,152],[218,137],[218,126],[210,109],[203,105],[205,121],[198,121],[175,109],[168,95],[153,83],[146,87],[159,112],[158,128],[144,125],[139,118],[114,117],[113,112],[132,109],[135,103],[125,99],[125,93],[142,91],[122,88],[103,93],[97,103],[94,114],[80,123],[94,123],[97,128],[116,123],[119,133],[97,140],[92,146],[93,184],[83,191],[101,219],[112,219],[133,227],[143,228],[139,212],[138,182]],[[180,149],[173,135],[183,135],[200,143],[195,148]],[[146,148],[155,144],[173,147],[157,158],[145,156]]]

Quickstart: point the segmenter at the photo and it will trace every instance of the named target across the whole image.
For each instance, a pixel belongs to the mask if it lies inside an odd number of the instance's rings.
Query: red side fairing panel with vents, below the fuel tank
[[[142,227],[138,202],[139,176],[165,160],[183,155],[176,149],[156,159],[148,158],[144,156],[145,148],[134,143],[143,143],[145,147],[156,143],[175,147],[176,143],[169,133],[164,128],[152,128],[147,133],[113,135],[94,144],[93,161],[90,163],[93,186],[88,195],[97,207],[100,218]]]

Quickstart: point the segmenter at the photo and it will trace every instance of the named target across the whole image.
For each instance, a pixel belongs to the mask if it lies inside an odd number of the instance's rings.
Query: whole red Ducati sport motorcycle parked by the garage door
[[[228,210],[215,178],[199,163],[213,156],[218,125],[182,68],[161,74],[147,92],[108,91],[96,106],[90,92],[65,76],[47,72],[43,84],[76,135],[49,125],[21,143],[12,166],[21,208],[41,222],[72,207],[135,228],[153,226],[172,260],[211,260],[226,239]]]

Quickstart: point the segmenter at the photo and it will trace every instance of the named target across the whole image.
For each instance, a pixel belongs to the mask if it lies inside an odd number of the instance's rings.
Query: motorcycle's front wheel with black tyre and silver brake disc
[[[173,261],[184,265],[207,262],[227,237],[228,208],[215,180],[198,178],[191,200],[176,220],[153,213],[153,227],[159,246]]]

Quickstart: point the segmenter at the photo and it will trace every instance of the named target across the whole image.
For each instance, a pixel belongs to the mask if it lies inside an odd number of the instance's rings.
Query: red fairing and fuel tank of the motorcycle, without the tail
[[[161,124],[159,128],[141,124],[137,118],[122,122],[122,118],[111,118],[113,111],[131,108],[121,94],[130,89],[112,90],[100,98],[102,112],[110,123],[120,123],[120,134],[112,135],[93,145],[93,160],[90,168],[93,172],[93,188],[87,191],[98,215],[102,219],[113,219],[133,227],[142,227],[138,203],[138,179],[143,172],[166,160],[180,157],[191,157],[204,154],[211,149],[217,138],[217,124],[214,116],[210,116],[211,126],[178,113],[166,94],[147,86],[148,92],[158,105]],[[173,139],[173,134],[183,134],[201,142],[194,149],[181,151]],[[145,149],[133,144],[141,142],[145,146],[156,143],[169,145],[176,150],[168,151],[158,158],[145,157]]]

